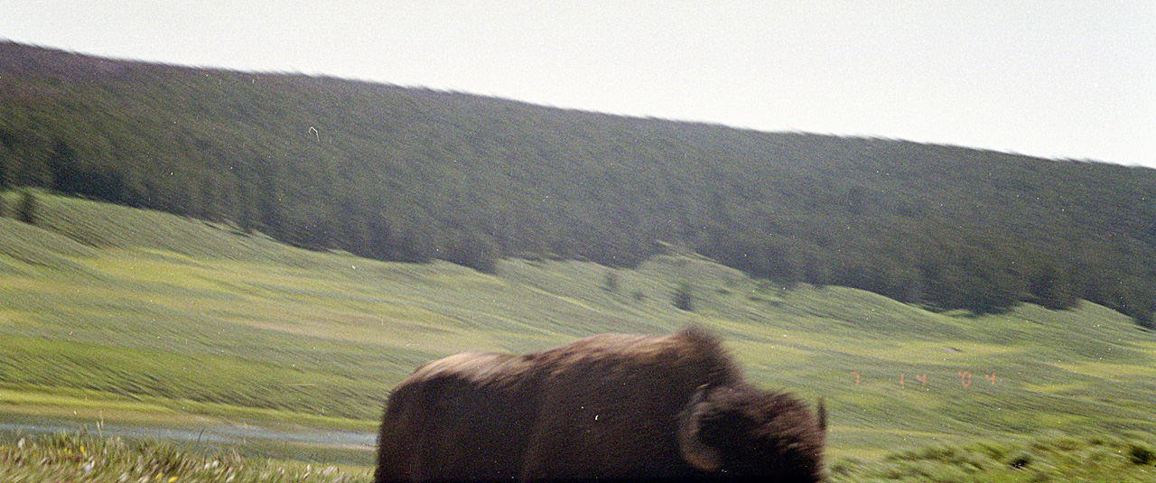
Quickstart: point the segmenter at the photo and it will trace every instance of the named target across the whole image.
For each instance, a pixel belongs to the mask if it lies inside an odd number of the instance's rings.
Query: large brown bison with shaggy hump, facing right
[[[390,394],[375,481],[822,480],[825,433],[718,339],[603,334],[427,363]]]

